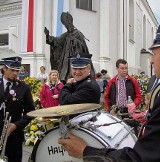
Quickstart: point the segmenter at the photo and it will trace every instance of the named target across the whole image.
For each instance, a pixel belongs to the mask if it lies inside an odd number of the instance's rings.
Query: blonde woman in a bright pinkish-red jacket
[[[59,105],[59,93],[62,87],[63,83],[59,81],[58,71],[52,70],[40,92],[40,102],[44,108]]]

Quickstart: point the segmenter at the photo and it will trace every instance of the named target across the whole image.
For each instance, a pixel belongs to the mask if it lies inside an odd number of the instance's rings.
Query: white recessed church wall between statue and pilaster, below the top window
[[[95,1],[96,2],[96,1]],[[76,1],[70,0],[70,13],[73,16],[74,26],[81,31],[86,40],[89,52],[93,54],[92,60],[96,69],[99,71],[99,3],[96,3],[94,11],[87,11],[76,8]]]

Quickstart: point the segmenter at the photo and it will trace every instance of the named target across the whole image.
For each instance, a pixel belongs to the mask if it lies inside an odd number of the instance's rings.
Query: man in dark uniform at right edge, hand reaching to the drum
[[[160,26],[150,48],[153,51],[151,64],[153,64],[157,78],[160,78]],[[133,148],[125,147],[123,149],[112,148],[93,148],[72,134],[68,139],[59,139],[69,155],[84,158],[87,161],[108,161],[120,162],[160,162],[160,84],[158,84],[151,94],[151,100],[141,136]],[[85,161],[84,160],[84,161]]]

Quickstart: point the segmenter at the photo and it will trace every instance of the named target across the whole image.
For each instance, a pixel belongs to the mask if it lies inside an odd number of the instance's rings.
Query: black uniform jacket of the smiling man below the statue
[[[99,103],[100,88],[96,80],[89,75],[82,81],[65,84],[60,92],[60,105]]]

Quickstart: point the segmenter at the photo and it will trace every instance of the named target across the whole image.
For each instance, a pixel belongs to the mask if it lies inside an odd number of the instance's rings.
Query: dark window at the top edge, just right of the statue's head
[[[76,7],[92,11],[92,0],[76,0]]]

